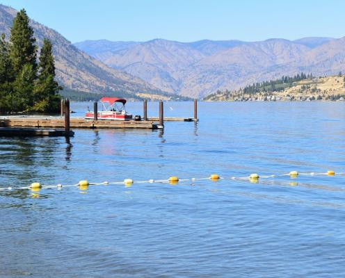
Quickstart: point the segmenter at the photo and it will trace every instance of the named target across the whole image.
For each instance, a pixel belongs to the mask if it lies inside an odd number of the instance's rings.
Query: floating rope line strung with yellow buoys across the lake
[[[257,173],[250,174],[248,177],[230,177],[228,178],[229,180],[247,180],[253,183],[257,183],[259,179],[274,179],[277,177],[290,177],[291,179],[297,179],[298,176],[335,176],[335,172],[332,170],[328,170],[325,173],[315,173],[315,172],[310,172],[310,173],[299,173],[297,171],[291,171],[288,174],[271,174],[271,175],[262,175],[259,176]],[[344,176],[345,173],[337,173],[337,176]],[[51,186],[51,185],[41,185],[38,182],[31,183],[30,186],[22,186],[18,188],[13,188],[13,187],[7,187],[7,188],[0,188],[0,191],[3,190],[33,190],[33,191],[38,191],[40,189],[44,188],[65,188],[65,187],[79,187],[81,190],[86,190],[88,186],[106,186],[106,185],[111,185],[111,184],[125,184],[125,186],[131,186],[133,183],[170,183],[170,184],[177,184],[182,181],[202,181],[202,180],[211,180],[211,181],[218,181],[220,179],[226,179],[225,177],[220,177],[218,174],[211,174],[209,177],[204,177],[204,178],[191,178],[191,179],[179,179],[176,176],[169,177],[168,179],[149,179],[147,181],[135,181],[133,179],[124,179],[123,181],[103,181],[99,183],[90,183],[87,180],[82,180],[79,181],[79,183],[75,184],[67,184],[67,185],[62,185],[61,183],[57,184],[56,186]]]

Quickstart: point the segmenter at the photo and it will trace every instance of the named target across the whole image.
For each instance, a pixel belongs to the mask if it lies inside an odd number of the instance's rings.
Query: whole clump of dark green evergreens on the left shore
[[[0,112],[57,112],[62,87],[54,80],[51,42],[43,41],[39,64],[33,29],[25,10],[17,13],[10,42],[0,38]]]

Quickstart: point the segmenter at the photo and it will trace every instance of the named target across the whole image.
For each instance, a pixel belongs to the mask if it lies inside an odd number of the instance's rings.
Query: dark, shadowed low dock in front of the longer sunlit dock
[[[31,136],[74,136],[74,132],[70,131],[66,135],[65,129],[35,129],[35,128],[15,128],[15,127],[0,127],[0,136],[21,136],[21,137],[31,137]]]

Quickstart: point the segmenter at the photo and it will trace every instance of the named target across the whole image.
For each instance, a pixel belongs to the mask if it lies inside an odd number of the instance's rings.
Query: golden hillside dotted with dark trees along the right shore
[[[216,92],[205,101],[312,101],[344,100],[345,76],[305,77],[299,81],[266,81],[240,90]]]

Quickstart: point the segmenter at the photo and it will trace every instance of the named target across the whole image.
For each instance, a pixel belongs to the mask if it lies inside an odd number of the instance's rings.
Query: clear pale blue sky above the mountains
[[[245,40],[345,35],[343,0],[0,0],[71,42]],[[49,3],[49,4],[48,4]]]

